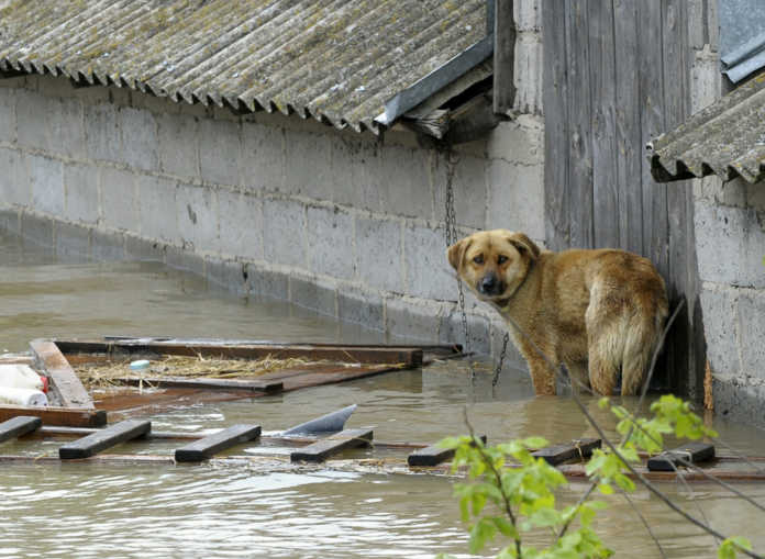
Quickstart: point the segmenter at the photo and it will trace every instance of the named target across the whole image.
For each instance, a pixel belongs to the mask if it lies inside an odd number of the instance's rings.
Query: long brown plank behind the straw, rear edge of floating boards
[[[403,364],[406,367],[422,365],[419,347],[385,346],[331,346],[318,344],[237,344],[221,343],[184,344],[171,342],[121,340],[68,340],[58,339],[56,345],[64,354],[108,355],[182,355],[202,357],[229,357],[242,359],[288,359],[292,357],[361,364]]]

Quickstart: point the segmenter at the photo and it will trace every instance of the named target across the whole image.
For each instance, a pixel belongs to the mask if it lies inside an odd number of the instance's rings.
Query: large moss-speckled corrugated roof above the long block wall
[[[377,130],[486,35],[486,0],[0,0],[0,69]]]

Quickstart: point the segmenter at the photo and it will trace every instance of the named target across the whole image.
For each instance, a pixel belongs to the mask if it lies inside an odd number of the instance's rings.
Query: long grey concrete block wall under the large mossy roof
[[[459,147],[462,234],[544,241],[541,122],[522,114]],[[97,258],[159,259],[391,337],[463,339],[446,158],[408,132],[378,138],[25,77],[0,80],[0,223],[42,243],[69,235]],[[497,353],[501,321],[469,297],[468,312],[472,348]]]

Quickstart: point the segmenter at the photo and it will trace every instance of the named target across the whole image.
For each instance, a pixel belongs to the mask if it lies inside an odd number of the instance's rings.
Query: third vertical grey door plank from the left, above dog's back
[[[613,3],[597,0],[586,5],[592,104],[592,243],[598,248],[619,248]]]

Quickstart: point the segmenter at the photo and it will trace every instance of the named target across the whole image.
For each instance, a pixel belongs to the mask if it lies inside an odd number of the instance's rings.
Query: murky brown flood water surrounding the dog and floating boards
[[[62,261],[46,248],[0,232],[0,353],[26,350],[36,337],[103,335],[391,342],[278,301],[232,297],[159,264]],[[586,402],[612,433],[596,402]],[[509,370],[496,390],[483,369],[470,383],[463,361],[167,411],[151,420],[156,431],[235,423],[278,431],[353,403],[358,409],[346,426],[373,427],[376,440],[433,443],[463,434],[465,410],[476,432],[490,441],[595,435],[570,399],[534,398],[525,374]],[[736,450],[765,455],[762,431],[720,418],[714,427]],[[0,454],[55,455],[60,444],[9,441],[0,445]],[[122,450],[170,454],[171,447],[152,443],[143,450],[131,445]],[[248,450],[256,451],[244,447],[237,454]],[[453,481],[332,468],[4,463],[0,557],[467,557]],[[765,504],[763,484],[738,487]],[[573,504],[585,488],[573,483],[561,500]],[[719,532],[745,535],[765,551],[765,515],[724,489],[706,483],[692,485],[692,494],[675,483],[661,489]],[[714,540],[658,499],[639,490],[632,500],[667,557],[716,557]],[[661,557],[631,505],[618,496],[607,501],[596,527],[617,557]],[[547,541],[543,533],[530,540]]]

